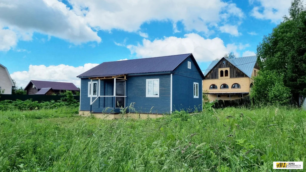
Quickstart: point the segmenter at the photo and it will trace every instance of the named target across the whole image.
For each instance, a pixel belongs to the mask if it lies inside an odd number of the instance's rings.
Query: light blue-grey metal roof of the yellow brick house
[[[221,58],[220,60],[222,60]],[[253,68],[256,64],[257,56],[247,56],[247,57],[239,57],[239,58],[224,58],[232,65],[236,66],[241,72],[246,74],[248,77],[252,76]],[[206,76],[211,69],[215,67],[215,65],[220,62],[220,60],[212,61],[208,66],[207,70],[204,72],[204,76]]]

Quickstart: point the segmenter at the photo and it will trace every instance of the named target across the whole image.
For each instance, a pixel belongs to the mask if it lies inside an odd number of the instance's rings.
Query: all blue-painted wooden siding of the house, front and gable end
[[[188,69],[188,61],[191,69]],[[135,103],[134,108],[139,113],[170,113],[170,73],[156,75],[131,76],[126,78],[125,106]],[[159,79],[159,97],[146,97],[146,79]],[[90,110],[88,97],[89,79],[81,79],[80,110]],[[199,98],[193,98],[193,82],[199,83]],[[114,81],[101,80],[101,95],[113,95]],[[93,100],[95,97],[93,97]],[[93,105],[93,112],[102,112],[105,107],[114,107],[113,97],[101,97]],[[153,107],[153,108],[152,108]],[[194,111],[195,107],[202,110],[202,77],[196,68],[195,61],[187,58],[174,70],[172,78],[172,110]],[[152,108],[152,109],[151,109]],[[112,110],[113,108],[110,108]],[[116,109],[116,112],[118,109]],[[129,111],[129,109],[128,109]]]

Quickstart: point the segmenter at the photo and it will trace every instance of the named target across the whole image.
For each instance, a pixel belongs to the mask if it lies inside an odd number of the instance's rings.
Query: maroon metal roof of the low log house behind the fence
[[[39,90],[42,88],[52,88],[53,90],[71,90],[71,91],[80,91],[73,83],[69,82],[53,82],[53,81],[42,81],[42,80],[31,80],[29,84],[32,84]],[[28,85],[29,85],[28,84]],[[24,90],[28,87],[24,88]]]

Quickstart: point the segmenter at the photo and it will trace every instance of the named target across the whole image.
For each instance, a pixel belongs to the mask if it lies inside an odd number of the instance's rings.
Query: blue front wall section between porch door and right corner
[[[146,97],[146,79],[159,78],[159,97]],[[170,74],[128,76],[126,80],[126,106],[135,103],[139,113],[170,113]]]

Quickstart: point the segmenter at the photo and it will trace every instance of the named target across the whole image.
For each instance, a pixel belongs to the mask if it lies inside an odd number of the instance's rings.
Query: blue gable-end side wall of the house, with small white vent
[[[188,69],[188,61],[191,69]],[[193,82],[199,83],[199,98],[193,98]],[[195,61],[187,58],[174,70],[172,77],[172,110],[202,110],[202,77]]]

